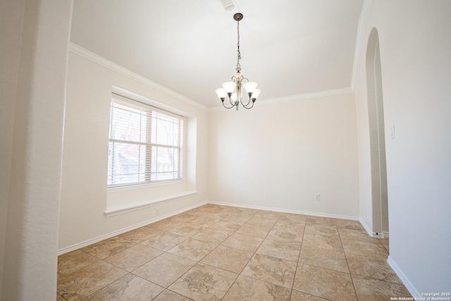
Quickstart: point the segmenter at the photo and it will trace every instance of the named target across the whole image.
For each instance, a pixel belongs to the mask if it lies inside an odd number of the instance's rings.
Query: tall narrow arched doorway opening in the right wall
[[[379,37],[371,30],[366,49],[366,90],[368,93],[369,138],[371,153],[371,197],[373,233],[388,237],[387,167]]]

